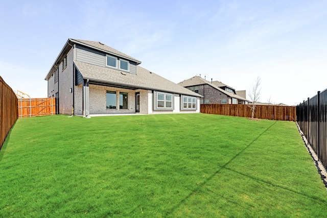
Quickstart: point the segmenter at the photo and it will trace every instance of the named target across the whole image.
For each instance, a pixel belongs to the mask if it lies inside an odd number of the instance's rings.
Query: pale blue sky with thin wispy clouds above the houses
[[[327,1],[4,1],[0,76],[32,98],[68,38],[101,41],[175,83],[199,76],[261,102],[327,88]]]

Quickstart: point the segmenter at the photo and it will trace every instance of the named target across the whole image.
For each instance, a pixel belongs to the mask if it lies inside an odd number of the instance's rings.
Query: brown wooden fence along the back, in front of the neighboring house
[[[228,116],[251,117],[249,105],[229,105],[229,104],[202,104],[201,113],[221,114]],[[271,120],[296,120],[296,107],[276,106],[276,105],[256,105],[254,118]]]

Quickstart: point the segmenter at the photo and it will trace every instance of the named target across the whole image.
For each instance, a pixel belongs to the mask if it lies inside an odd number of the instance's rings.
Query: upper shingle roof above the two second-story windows
[[[115,50],[113,49],[112,47],[109,47],[108,45],[105,45],[101,42],[96,42],[96,41],[87,41],[87,40],[81,40],[81,39],[69,39],[71,40],[72,42],[76,42],[78,44],[84,44],[88,47],[92,47],[93,49],[96,48],[96,49],[100,49],[102,51],[105,51],[109,54],[112,54],[112,55],[117,55],[117,56],[120,56],[120,57],[125,57],[126,59],[128,60],[132,60],[132,61],[135,61],[137,64],[140,64],[141,61],[129,56],[129,55],[126,55],[118,50]]]

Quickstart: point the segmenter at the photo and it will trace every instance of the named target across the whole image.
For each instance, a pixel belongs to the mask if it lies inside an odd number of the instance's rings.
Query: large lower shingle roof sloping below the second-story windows
[[[177,85],[138,65],[136,66],[137,75],[134,75],[109,67],[101,67],[80,61],[74,61],[74,64],[83,78],[89,79],[90,81],[201,97],[200,94]]]

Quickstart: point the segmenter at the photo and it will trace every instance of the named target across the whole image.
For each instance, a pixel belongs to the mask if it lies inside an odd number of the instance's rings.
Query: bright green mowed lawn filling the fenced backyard
[[[212,114],[19,118],[0,217],[325,217],[294,122]]]

